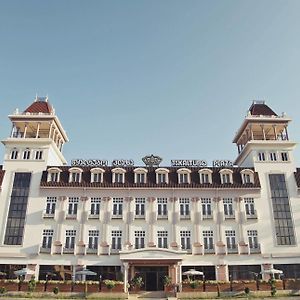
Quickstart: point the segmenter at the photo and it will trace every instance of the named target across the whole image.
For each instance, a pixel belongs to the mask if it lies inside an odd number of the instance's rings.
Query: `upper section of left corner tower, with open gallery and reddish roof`
[[[62,147],[68,137],[48,97],[36,97],[22,113],[16,109],[8,117],[12,130],[2,141],[5,145],[4,169],[10,166],[15,169],[16,163],[26,169],[33,162],[41,169],[46,169],[47,165],[66,164]]]

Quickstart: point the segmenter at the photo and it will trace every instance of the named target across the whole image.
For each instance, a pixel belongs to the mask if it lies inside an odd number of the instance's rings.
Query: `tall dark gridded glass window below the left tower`
[[[6,222],[5,245],[22,245],[31,173],[15,173]]]

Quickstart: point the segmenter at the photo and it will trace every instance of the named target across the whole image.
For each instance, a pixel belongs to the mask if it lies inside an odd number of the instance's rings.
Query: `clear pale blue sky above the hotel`
[[[37,93],[68,162],[234,159],[254,99],[298,141],[299,16],[299,0],[0,0],[0,137]]]

